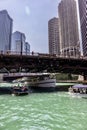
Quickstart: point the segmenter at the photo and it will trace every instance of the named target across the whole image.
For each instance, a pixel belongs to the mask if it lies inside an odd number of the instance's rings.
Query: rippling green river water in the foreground
[[[0,130],[87,130],[87,99],[68,92],[0,95]]]

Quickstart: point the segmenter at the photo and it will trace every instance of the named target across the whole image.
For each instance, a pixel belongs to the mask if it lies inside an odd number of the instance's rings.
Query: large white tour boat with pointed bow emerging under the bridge
[[[21,82],[33,92],[51,92],[55,90],[56,78],[53,74],[41,73],[21,78]]]

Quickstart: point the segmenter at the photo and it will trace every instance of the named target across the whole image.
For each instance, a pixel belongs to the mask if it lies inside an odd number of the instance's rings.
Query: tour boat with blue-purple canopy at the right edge
[[[69,94],[72,96],[87,98],[87,85],[76,84],[69,88]]]

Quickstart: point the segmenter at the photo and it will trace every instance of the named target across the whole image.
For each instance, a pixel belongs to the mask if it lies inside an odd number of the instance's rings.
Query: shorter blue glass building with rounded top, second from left
[[[12,44],[11,52],[15,54],[25,54],[26,45],[25,45],[25,34],[19,31],[16,31],[12,34]]]

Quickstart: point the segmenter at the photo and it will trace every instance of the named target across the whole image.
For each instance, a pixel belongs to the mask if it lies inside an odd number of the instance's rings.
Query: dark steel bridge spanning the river
[[[0,54],[0,71],[52,72],[87,75],[87,59],[60,57],[50,54]]]

